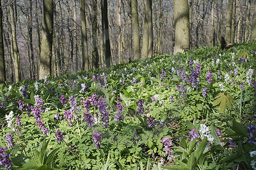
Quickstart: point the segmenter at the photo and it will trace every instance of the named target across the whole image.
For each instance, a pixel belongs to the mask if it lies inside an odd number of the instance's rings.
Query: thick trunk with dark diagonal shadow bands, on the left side
[[[39,79],[51,76],[52,71],[52,35],[53,35],[53,0],[43,1],[42,46],[39,65]]]

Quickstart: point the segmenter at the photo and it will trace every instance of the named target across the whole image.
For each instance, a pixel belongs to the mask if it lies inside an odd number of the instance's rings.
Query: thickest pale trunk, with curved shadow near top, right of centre
[[[175,46],[174,54],[189,50],[190,27],[188,0],[174,2]]]

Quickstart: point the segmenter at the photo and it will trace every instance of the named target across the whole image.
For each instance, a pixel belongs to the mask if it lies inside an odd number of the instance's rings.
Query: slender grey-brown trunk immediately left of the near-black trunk
[[[98,56],[97,49],[97,0],[91,1],[91,21],[92,21],[92,60],[93,60],[93,69],[99,68],[100,58]]]

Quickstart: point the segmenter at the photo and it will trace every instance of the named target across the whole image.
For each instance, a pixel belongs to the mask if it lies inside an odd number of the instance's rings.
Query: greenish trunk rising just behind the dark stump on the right
[[[229,3],[228,3],[228,13],[226,15],[226,34],[225,34],[225,39],[226,39],[226,41],[228,41],[228,43],[231,42],[233,2],[234,2],[234,0],[229,0]]]

